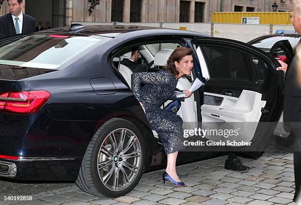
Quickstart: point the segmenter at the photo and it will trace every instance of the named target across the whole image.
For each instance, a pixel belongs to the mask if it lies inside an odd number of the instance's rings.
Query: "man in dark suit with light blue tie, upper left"
[[[8,0],[9,13],[0,17],[0,38],[34,32],[35,20],[23,14],[23,0]]]

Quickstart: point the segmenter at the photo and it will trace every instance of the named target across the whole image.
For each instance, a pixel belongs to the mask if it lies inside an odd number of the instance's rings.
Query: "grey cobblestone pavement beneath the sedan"
[[[291,153],[264,153],[243,159],[246,172],[225,170],[226,156],[177,168],[187,187],[164,187],[163,171],[142,176],[136,188],[117,199],[95,197],[75,183],[25,184],[0,181],[0,205],[296,205]],[[32,196],[32,201],[4,201],[4,196]]]

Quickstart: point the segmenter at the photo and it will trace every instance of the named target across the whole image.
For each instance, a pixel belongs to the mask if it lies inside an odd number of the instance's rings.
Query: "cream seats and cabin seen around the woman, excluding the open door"
[[[173,51],[179,47],[178,43],[156,43],[156,44],[148,44],[139,46],[139,59],[138,63],[141,63],[147,72],[157,72],[159,70],[163,70],[163,66],[166,65],[166,62]],[[130,50],[130,49],[128,49]],[[123,53],[122,55],[115,56],[113,58],[113,64],[116,69],[119,70],[129,88],[131,88],[131,74],[132,70],[121,64],[122,59],[130,59],[131,51]],[[189,79],[189,80],[188,80]],[[191,72],[190,76],[181,77],[178,80],[177,88],[179,90],[189,89],[193,82],[193,72]],[[171,101],[166,101],[161,108],[166,106]],[[196,127],[197,119],[197,102],[192,95],[189,98],[186,98],[184,102],[181,102],[181,108],[177,113],[183,120],[184,129],[192,129]],[[194,122],[194,123],[193,123]],[[153,130],[153,135],[155,138],[158,138],[158,134]]]

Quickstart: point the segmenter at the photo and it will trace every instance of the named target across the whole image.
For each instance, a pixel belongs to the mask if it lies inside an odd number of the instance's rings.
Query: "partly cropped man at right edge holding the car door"
[[[301,34],[301,1],[296,0],[296,6],[292,15],[292,23],[298,34]],[[301,202],[301,45],[295,49],[296,55],[289,68],[287,64],[280,62],[285,75],[283,121],[291,128],[291,138],[294,140],[294,172],[295,172],[295,196],[294,202]],[[298,204],[298,203],[297,203]]]

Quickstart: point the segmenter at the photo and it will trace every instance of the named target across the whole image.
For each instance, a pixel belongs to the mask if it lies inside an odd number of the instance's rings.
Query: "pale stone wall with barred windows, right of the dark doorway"
[[[274,2],[278,11],[294,8],[294,0],[100,0],[89,16],[89,3],[73,0],[72,21],[208,23],[211,12],[272,11]]]

